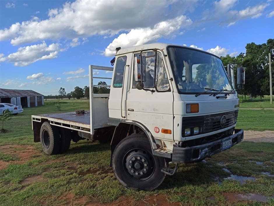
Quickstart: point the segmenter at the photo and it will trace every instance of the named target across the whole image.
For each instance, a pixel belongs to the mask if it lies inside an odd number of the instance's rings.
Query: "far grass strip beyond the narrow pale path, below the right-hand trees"
[[[270,104],[270,96],[265,96],[262,99],[260,97],[249,99],[249,96],[242,96],[238,95],[238,98],[240,99],[240,108],[274,108],[274,102],[273,104]],[[274,96],[272,97],[274,101]]]

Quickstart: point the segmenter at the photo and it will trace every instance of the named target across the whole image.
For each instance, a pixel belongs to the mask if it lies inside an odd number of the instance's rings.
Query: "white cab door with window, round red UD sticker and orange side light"
[[[173,92],[164,55],[160,50],[148,51],[142,52],[142,60],[140,58],[140,53],[135,53],[132,60],[132,81],[126,101],[127,119],[144,125],[154,138],[173,141]],[[141,73],[145,75],[143,88],[140,88],[140,79],[136,81],[136,76],[140,77],[135,75],[138,62],[142,62]]]

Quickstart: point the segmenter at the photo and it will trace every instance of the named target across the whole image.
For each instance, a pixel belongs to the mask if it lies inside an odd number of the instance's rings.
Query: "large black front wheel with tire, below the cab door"
[[[130,135],[116,146],[112,167],[117,179],[129,189],[154,190],[166,177],[161,172],[164,158],[152,155],[150,142],[143,134]]]

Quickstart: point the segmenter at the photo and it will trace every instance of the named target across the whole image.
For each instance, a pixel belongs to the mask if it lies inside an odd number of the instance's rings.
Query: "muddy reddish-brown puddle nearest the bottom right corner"
[[[230,202],[236,200],[252,200],[258,202],[268,202],[268,199],[260,194],[248,193],[248,194],[237,194],[237,193],[223,193],[224,197]]]

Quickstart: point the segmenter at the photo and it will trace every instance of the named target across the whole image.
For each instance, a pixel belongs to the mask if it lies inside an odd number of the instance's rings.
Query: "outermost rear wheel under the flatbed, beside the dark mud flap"
[[[57,154],[60,150],[60,133],[57,127],[44,122],[40,130],[40,141],[43,151],[48,155]]]

